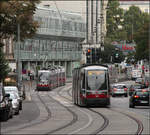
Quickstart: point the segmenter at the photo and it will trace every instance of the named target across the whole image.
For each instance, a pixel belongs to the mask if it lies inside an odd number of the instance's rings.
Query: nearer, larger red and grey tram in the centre
[[[110,105],[110,83],[107,66],[83,65],[73,71],[72,100],[79,106]]]

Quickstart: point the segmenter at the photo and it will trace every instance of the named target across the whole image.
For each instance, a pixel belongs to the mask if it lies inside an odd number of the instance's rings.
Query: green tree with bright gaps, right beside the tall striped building
[[[109,0],[107,9],[107,38],[112,41],[124,40],[126,31],[124,30],[123,9],[119,8],[118,0]]]

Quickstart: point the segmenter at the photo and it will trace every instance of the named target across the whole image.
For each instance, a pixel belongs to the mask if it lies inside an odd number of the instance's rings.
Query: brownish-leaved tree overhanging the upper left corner
[[[38,22],[33,15],[39,0],[3,0],[0,2],[0,81],[9,72],[7,61],[3,54],[3,39],[13,37],[17,40],[17,25],[20,24],[20,38],[31,38],[37,28]]]

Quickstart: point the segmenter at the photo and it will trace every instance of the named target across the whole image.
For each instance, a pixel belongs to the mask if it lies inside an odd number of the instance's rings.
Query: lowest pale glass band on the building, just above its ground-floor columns
[[[17,51],[15,50],[15,59]],[[20,51],[21,61],[75,61],[81,59],[81,51]]]

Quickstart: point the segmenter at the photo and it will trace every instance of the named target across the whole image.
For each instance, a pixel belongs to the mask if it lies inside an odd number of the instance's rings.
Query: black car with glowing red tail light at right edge
[[[148,89],[139,89],[134,91],[129,99],[129,107],[134,108],[135,106],[148,106],[149,93],[150,91]]]

